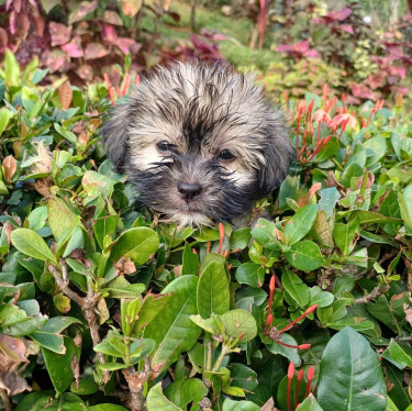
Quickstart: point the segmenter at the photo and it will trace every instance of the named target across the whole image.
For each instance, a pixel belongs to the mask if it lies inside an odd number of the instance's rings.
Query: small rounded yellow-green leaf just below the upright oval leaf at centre
[[[231,310],[220,315],[225,334],[236,340],[243,335],[242,343],[245,343],[255,337],[257,333],[256,320],[246,310]]]

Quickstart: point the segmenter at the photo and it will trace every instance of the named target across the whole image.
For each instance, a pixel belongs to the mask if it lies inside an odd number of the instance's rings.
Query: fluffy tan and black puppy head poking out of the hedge
[[[140,200],[179,225],[246,213],[292,158],[281,113],[250,76],[221,64],[158,68],[113,109],[103,141]]]

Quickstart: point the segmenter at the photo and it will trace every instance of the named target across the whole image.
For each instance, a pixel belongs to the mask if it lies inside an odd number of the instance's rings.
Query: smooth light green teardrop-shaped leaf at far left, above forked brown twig
[[[33,230],[16,229],[11,233],[11,241],[19,252],[30,257],[57,263],[46,242]]]

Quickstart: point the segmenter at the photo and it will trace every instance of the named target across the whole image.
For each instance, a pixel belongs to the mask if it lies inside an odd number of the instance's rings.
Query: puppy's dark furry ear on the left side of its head
[[[119,171],[123,170],[127,154],[130,105],[127,102],[114,105],[101,130],[105,153]]]

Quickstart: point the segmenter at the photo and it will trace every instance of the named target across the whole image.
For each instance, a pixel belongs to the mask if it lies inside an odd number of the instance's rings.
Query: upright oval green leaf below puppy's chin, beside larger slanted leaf
[[[198,282],[198,312],[203,319],[223,314],[230,309],[229,280],[224,266],[208,264]]]

